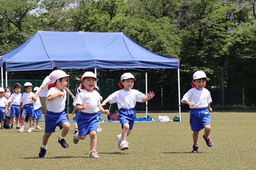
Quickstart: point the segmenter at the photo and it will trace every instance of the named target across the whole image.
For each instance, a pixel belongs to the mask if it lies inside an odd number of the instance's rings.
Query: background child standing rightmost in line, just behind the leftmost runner
[[[39,87],[35,87],[34,88],[34,94],[36,93],[36,91],[39,89]],[[34,129],[34,124],[35,124],[35,120],[36,120],[36,129],[42,129],[39,126],[39,120],[42,118],[42,111],[41,111],[41,102],[39,99],[39,96],[36,97],[36,101],[34,103],[34,116],[33,116],[33,122],[32,122],[32,130]]]

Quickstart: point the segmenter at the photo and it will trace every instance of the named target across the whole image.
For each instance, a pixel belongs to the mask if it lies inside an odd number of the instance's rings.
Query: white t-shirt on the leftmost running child
[[[60,92],[59,89],[57,89],[56,87],[52,87],[48,90],[47,96],[52,95],[52,94],[56,94],[57,92]],[[54,113],[60,113],[63,112],[65,109],[65,102],[67,99],[67,92],[65,90],[63,90],[62,92],[64,92],[64,97],[56,97],[56,99],[52,100],[52,101],[48,101],[46,100],[46,107],[47,107],[47,111],[50,112],[54,112]]]

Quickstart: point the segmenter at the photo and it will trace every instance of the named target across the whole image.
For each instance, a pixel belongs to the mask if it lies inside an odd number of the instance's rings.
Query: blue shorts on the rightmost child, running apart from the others
[[[207,108],[191,109],[189,122],[192,131],[200,131],[210,125],[210,112]]]

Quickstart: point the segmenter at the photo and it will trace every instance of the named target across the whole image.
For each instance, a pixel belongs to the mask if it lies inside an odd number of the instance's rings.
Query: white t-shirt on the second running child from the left
[[[101,104],[100,94],[95,90],[93,92],[82,90],[77,96],[76,104],[80,104],[81,106],[88,104],[90,106],[89,109],[84,109],[81,112],[97,113],[100,111],[100,108],[98,108],[98,105]]]

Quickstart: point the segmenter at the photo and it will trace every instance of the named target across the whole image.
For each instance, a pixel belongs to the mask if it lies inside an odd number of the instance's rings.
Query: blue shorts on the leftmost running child
[[[56,126],[60,127],[60,130],[63,128],[62,124],[64,122],[68,122],[67,116],[65,112],[55,113],[55,112],[46,112],[46,129],[45,133],[53,133],[55,132]]]

